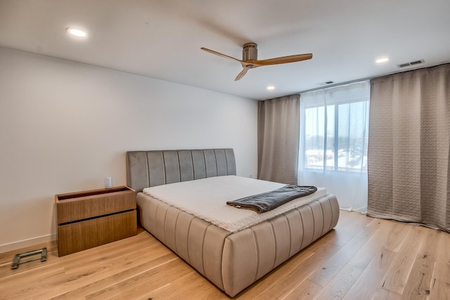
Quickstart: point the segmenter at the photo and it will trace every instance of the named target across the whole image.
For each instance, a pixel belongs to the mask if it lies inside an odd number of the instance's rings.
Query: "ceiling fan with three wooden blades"
[[[215,54],[217,56],[221,56],[223,58],[230,58],[232,60],[238,61],[243,70],[238,74],[238,76],[234,79],[234,81],[238,81],[247,73],[250,69],[255,69],[255,67],[262,67],[263,65],[279,65],[282,63],[295,63],[297,61],[309,60],[312,58],[312,53],[306,54],[297,54],[295,56],[282,56],[279,58],[269,58],[267,60],[258,60],[258,49],[257,44],[255,43],[247,43],[244,44],[242,50],[242,60],[238,60],[237,58],[233,58],[231,56],[226,56],[225,54],[219,53],[217,51],[210,50],[208,48],[201,48],[204,51]]]

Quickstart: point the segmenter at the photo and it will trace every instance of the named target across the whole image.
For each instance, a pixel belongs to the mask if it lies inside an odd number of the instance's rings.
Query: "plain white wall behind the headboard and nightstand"
[[[56,238],[54,195],[125,185],[127,150],[234,148],[257,172],[257,101],[0,48],[0,252]]]

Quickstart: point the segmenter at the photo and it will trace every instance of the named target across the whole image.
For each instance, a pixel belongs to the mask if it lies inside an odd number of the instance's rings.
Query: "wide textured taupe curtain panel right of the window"
[[[368,215],[450,232],[450,65],[371,81]]]

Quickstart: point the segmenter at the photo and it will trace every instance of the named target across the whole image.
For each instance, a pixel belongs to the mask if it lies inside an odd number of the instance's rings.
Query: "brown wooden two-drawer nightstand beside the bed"
[[[55,195],[58,256],[136,235],[136,192],[127,186]]]

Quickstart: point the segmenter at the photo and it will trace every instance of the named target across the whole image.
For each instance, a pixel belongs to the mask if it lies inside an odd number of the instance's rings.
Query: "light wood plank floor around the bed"
[[[46,262],[11,270],[16,253]],[[58,257],[0,254],[0,299],[229,299],[141,230]],[[450,234],[341,211],[335,230],[235,299],[450,299]]]

